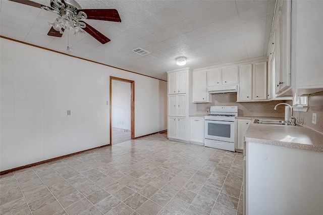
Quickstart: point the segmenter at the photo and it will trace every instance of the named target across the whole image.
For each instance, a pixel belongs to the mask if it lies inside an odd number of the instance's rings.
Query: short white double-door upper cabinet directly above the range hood
[[[207,86],[238,84],[238,66],[207,70]]]

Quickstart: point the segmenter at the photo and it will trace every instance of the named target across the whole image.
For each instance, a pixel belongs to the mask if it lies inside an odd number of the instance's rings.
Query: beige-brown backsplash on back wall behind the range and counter
[[[237,102],[237,93],[218,93],[212,94],[212,103],[197,103],[196,114],[206,114],[206,109],[213,105],[238,106],[238,116],[258,116],[258,117],[284,117],[284,105],[279,105],[274,110],[276,104],[291,101],[274,100],[258,102]]]

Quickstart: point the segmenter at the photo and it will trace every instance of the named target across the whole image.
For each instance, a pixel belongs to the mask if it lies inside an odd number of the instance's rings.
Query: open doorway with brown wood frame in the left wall
[[[135,82],[110,76],[110,144],[135,138]]]

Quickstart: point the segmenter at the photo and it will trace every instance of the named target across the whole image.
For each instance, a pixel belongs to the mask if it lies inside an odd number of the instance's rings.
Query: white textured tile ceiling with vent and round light
[[[111,39],[101,44],[90,35],[47,36],[57,14],[1,0],[0,34],[69,55],[167,80],[166,71],[192,69],[267,55],[275,0],[142,1],[76,0],[83,9],[115,8],[122,22],[87,20]],[[49,0],[34,0],[49,6]],[[67,38],[73,50],[67,50]],[[141,47],[151,52],[132,52]],[[184,56],[185,66],[175,59]]]

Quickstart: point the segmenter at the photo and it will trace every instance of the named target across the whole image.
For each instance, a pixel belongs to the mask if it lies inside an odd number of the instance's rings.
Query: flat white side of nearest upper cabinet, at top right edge
[[[293,20],[297,20],[292,22],[292,29],[296,29],[292,31],[296,41],[292,66],[293,73],[296,70],[297,94],[323,91],[323,1],[293,1],[292,7]]]

